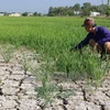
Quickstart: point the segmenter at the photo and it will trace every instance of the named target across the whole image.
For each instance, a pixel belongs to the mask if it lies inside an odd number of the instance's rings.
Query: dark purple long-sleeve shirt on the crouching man
[[[102,48],[106,42],[110,42],[110,31],[103,26],[96,26],[96,33],[89,32],[87,36],[75,46],[75,50],[80,50],[89,43],[89,40],[95,40]]]

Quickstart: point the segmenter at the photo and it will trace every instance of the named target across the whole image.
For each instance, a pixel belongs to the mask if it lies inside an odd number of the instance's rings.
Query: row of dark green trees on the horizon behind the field
[[[62,16],[62,15],[90,15],[90,11],[92,12],[100,12],[101,15],[106,14],[109,15],[110,12],[108,10],[108,4],[100,4],[100,6],[91,6],[90,2],[84,2],[82,7],[79,3],[76,3],[73,7],[50,7],[48,9],[48,16]]]

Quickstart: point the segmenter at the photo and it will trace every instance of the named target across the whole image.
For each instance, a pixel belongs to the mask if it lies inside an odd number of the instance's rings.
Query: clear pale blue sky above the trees
[[[0,0],[0,12],[38,12],[47,13],[50,7],[74,7],[84,2],[105,4],[108,0]]]

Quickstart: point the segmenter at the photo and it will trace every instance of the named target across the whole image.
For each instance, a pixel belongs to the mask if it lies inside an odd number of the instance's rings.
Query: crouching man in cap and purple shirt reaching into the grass
[[[89,44],[98,53],[110,54],[110,31],[103,26],[97,26],[92,18],[87,18],[81,25],[88,32],[87,36],[70,51],[77,51]]]

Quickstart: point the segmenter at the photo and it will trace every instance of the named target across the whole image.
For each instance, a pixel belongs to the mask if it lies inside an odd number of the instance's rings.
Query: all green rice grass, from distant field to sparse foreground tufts
[[[67,79],[82,79],[100,85],[105,74],[109,70],[110,59],[100,61],[98,53],[92,53],[89,46],[84,47],[80,54],[69,52],[77,43],[84,40],[87,32],[81,24],[85,18],[11,18],[0,16],[0,54],[6,63],[12,58],[13,47],[25,46],[35,51],[34,61],[40,67],[32,67],[28,56],[23,53],[21,64],[26,73],[30,70],[42,86],[36,87],[37,97],[44,99],[42,108],[53,101],[53,98],[64,98],[73,95],[62,90],[58,82]],[[98,25],[110,30],[110,20],[96,18]],[[7,45],[6,45],[7,44]],[[14,46],[9,46],[12,44]],[[55,73],[55,74],[54,74]],[[57,78],[56,81],[53,79]]]

